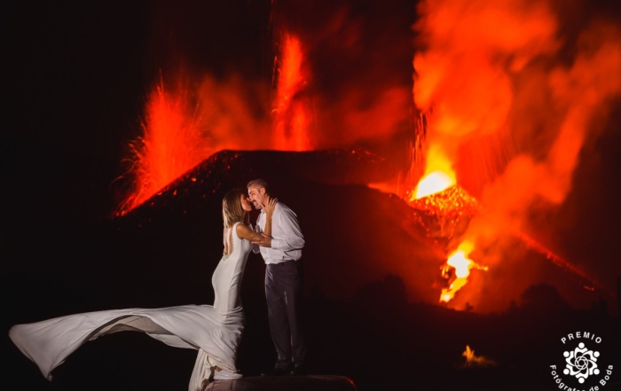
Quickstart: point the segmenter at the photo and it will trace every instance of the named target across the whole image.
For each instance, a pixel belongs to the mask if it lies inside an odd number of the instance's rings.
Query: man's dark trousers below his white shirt
[[[265,267],[265,299],[271,339],[278,358],[276,368],[290,370],[302,365],[306,345],[301,319],[302,260],[268,264]]]

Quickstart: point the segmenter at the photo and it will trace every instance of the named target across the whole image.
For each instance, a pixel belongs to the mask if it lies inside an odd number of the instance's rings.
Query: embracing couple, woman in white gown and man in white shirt
[[[249,223],[251,205],[260,209]],[[198,350],[189,390],[212,380],[239,379],[236,360],[244,328],[241,280],[250,252],[261,253],[265,267],[265,299],[277,361],[265,375],[303,374],[306,347],[300,314],[304,238],[297,216],[272,198],[262,179],[248,190],[227,192],[222,202],[224,252],[211,283],[213,305],[162,309],[113,309],[68,315],[14,325],[13,343],[51,380],[51,371],[89,340],[113,332],[145,332],[176,348]]]

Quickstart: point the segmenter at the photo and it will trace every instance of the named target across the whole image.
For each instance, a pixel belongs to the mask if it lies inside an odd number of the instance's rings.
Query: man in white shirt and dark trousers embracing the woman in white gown
[[[248,198],[261,210],[255,231],[261,233],[252,243],[255,253],[265,261],[265,299],[267,301],[271,340],[278,358],[273,370],[265,375],[304,374],[304,341],[300,299],[302,296],[302,248],[304,237],[294,211],[276,204],[271,216],[271,236],[265,230],[263,207],[270,201],[268,184],[263,179],[248,183]]]

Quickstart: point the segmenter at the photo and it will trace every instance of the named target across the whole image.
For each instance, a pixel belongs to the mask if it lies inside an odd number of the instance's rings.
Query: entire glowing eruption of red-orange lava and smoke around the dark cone
[[[239,77],[214,82],[213,77],[203,76],[202,82],[196,82],[199,78],[184,69],[161,77],[147,99],[144,136],[131,143],[127,177],[133,179],[133,187],[117,215],[161,194],[218,151],[303,152],[334,146],[353,151],[357,144],[372,145],[387,134],[405,134],[405,129],[406,142],[379,148],[384,157],[402,164],[400,172],[381,185],[371,180],[367,184],[404,199],[415,211],[414,220],[426,232],[429,245],[444,253],[445,262],[438,265],[442,283],[436,284],[440,302],[452,301],[468,290],[473,270],[491,275],[484,271],[494,270],[502,254],[513,251],[496,245],[491,250],[492,244],[507,236],[546,254],[585,285],[601,286],[525,232],[533,231],[533,207],[550,211],[562,204],[570,192],[578,152],[598,132],[601,112],[597,108],[621,90],[617,79],[600,84],[584,71],[585,67],[618,70],[619,35],[601,42],[593,31],[602,27],[587,28],[580,38],[588,43],[586,49],[578,46],[574,65],[566,66],[558,59],[560,16],[552,4],[483,3],[480,7],[453,0],[418,4],[412,24],[413,84],[405,86],[412,90],[409,113],[397,114],[397,118],[403,115],[402,120],[388,127],[389,115],[381,113],[386,106],[374,99],[391,97],[390,102],[397,102],[404,97],[400,92],[404,86],[387,82],[373,98],[349,86],[343,100],[350,103],[334,104],[332,94],[340,87],[334,76],[326,76],[321,56],[330,50],[347,53],[364,36],[347,30],[346,9],[330,16],[333,20],[325,35],[313,35],[317,27],[312,22],[305,26],[288,20],[286,13],[295,6],[286,10],[273,4],[270,31],[276,53],[271,87],[263,89],[270,92],[248,93],[245,90],[251,90],[254,82],[240,82]],[[301,4],[296,6],[303,9]],[[532,28],[524,32],[524,24]],[[613,27],[606,28],[617,33]],[[328,33],[347,39],[342,46],[331,43],[334,48],[318,50]],[[603,59],[601,51],[610,48],[616,51]],[[531,80],[545,90],[544,98],[533,90]],[[572,85],[596,88],[579,98]],[[248,99],[257,97],[263,99],[263,112],[250,109]],[[526,111],[531,113],[525,116]],[[554,121],[543,119],[546,111]],[[416,126],[404,127],[403,118],[413,113],[419,121],[410,118],[410,124],[416,122]],[[373,127],[375,134],[368,130]],[[544,129],[545,136],[538,136],[538,129]],[[532,145],[529,137],[542,142]],[[403,164],[397,156],[405,155],[410,160]]]

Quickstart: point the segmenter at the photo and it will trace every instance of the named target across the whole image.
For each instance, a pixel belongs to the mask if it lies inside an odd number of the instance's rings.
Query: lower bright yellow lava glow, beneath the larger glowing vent
[[[449,285],[442,289],[440,301],[448,302],[455,296],[466,283],[471,269],[487,270],[487,267],[480,266],[468,258],[474,246],[470,242],[464,242],[460,247],[449,255],[448,260],[442,267],[442,277],[449,281]]]

